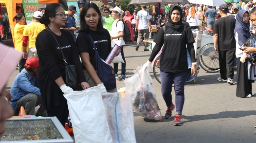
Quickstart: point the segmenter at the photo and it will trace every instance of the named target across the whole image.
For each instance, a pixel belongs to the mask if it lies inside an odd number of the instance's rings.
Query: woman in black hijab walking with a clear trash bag
[[[150,67],[157,53],[163,47],[160,56],[160,76],[161,90],[167,106],[165,118],[172,118],[172,111],[175,105],[172,101],[172,84],[174,81],[176,115],[174,116],[174,126],[182,125],[181,115],[184,105],[184,86],[188,74],[187,51],[192,59],[191,73],[193,76],[197,73],[195,42],[191,28],[182,23],[182,9],[174,5],[169,10],[168,23],[165,25],[165,31],[162,27],[154,38],[155,47],[148,61],[143,65],[144,69]],[[165,43],[165,44],[164,44]]]

